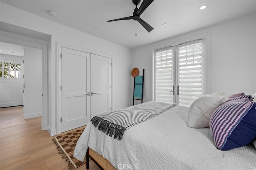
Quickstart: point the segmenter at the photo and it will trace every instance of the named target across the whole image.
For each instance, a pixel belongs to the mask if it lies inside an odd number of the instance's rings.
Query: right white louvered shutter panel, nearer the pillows
[[[202,40],[178,45],[178,104],[190,106],[202,96]]]

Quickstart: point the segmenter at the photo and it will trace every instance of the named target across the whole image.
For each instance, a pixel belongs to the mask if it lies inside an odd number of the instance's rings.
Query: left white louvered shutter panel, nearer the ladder
[[[173,103],[173,50],[167,47],[154,51],[154,91],[156,102]]]

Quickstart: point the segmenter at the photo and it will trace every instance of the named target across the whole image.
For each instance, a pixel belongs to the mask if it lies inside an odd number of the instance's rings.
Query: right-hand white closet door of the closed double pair
[[[91,55],[91,117],[110,111],[111,59]]]

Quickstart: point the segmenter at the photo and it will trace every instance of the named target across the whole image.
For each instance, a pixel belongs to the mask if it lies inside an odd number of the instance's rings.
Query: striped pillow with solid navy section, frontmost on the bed
[[[242,147],[256,139],[256,103],[227,102],[210,118],[212,139],[220,150]]]

